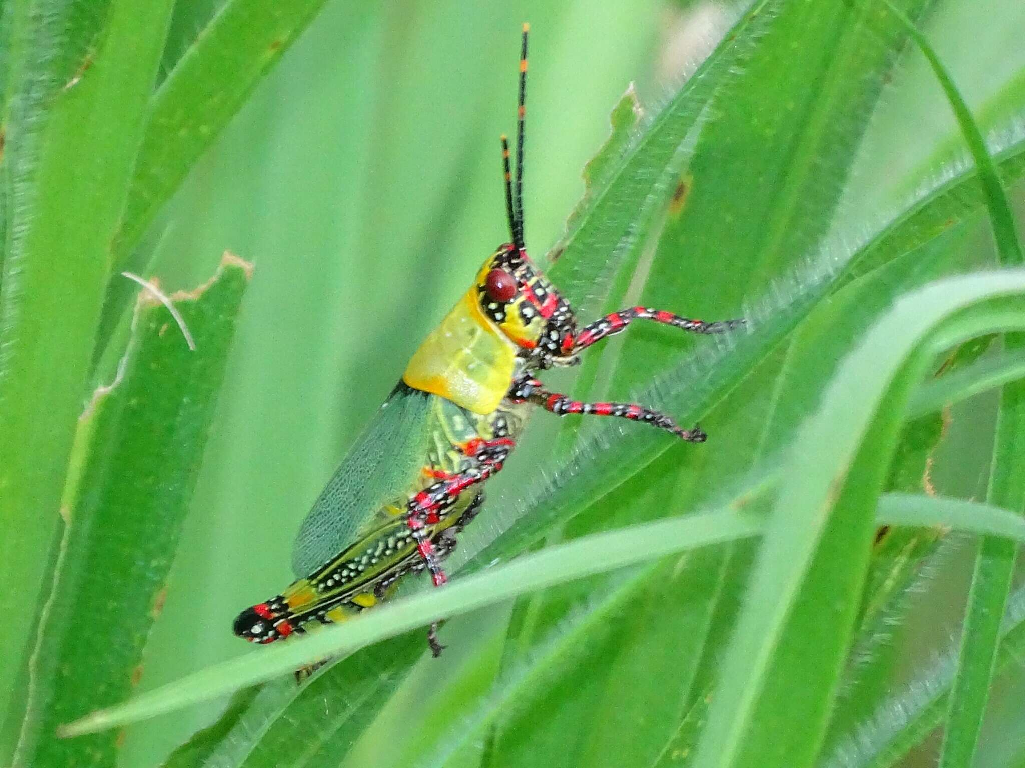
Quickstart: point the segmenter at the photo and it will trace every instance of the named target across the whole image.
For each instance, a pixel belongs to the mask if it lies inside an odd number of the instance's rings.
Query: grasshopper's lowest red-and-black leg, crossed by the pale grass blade
[[[413,531],[416,551],[435,587],[442,587],[448,582],[448,577],[442,569],[441,559],[435,550],[427,532],[428,525],[441,522],[445,511],[455,504],[466,488],[478,485],[492,475],[500,472],[509,452],[516,447],[516,442],[507,437],[494,440],[470,440],[463,446],[463,453],[475,461],[474,466],[461,472],[440,479],[414,496],[406,507],[406,525]],[[438,623],[430,625],[427,633],[427,643],[430,652],[438,656],[444,646],[438,642]]]

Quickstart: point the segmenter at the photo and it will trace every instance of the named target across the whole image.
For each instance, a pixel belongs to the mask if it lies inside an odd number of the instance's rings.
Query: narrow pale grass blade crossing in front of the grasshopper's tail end
[[[118,708],[95,713],[61,729],[74,736],[114,728],[171,712],[197,701],[270,680],[317,659],[351,653],[375,640],[454,616],[493,602],[660,556],[755,536],[758,523],[732,511],[665,520],[630,530],[604,534],[528,555],[486,573],[459,580],[451,588],[382,606],[343,626],[326,628],[302,642],[262,649],[259,664],[243,656],[142,694]]]

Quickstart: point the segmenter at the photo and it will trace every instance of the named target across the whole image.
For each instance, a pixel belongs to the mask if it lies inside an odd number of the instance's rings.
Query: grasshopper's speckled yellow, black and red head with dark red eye
[[[477,273],[481,311],[518,348],[528,368],[547,368],[576,331],[570,305],[527,252],[500,246]]]

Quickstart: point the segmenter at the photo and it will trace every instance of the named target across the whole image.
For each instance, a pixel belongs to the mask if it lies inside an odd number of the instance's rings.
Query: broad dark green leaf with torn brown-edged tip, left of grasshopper
[[[181,522],[251,267],[225,255],[213,280],[171,301],[144,290],[117,377],[79,419],[55,582],[30,673],[15,766],[115,764],[116,734],[55,739],[58,725],[123,699],[163,602]]]

